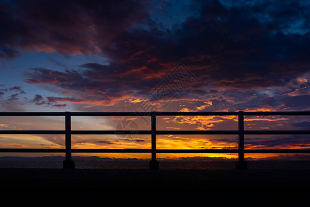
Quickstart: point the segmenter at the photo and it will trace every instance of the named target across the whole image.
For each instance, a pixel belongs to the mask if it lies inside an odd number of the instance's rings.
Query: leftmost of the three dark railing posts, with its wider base
[[[71,156],[71,115],[65,112],[65,160],[63,169],[74,169],[74,161]]]

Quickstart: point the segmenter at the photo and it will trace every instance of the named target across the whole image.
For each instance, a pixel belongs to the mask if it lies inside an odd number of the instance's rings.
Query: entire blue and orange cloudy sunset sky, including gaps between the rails
[[[309,1],[1,0],[0,28],[0,111],[310,110]],[[158,117],[157,129],[237,130],[236,118]],[[73,130],[122,125],[149,130],[150,119],[72,117]],[[310,119],[245,117],[245,128],[310,130]],[[64,130],[64,118],[0,117],[0,130]],[[157,148],[238,148],[237,138],[158,135]],[[0,135],[0,148],[64,140]],[[72,148],[150,147],[148,135],[72,135]],[[309,135],[245,137],[245,148],[309,147]],[[194,156],[236,157],[158,155]]]

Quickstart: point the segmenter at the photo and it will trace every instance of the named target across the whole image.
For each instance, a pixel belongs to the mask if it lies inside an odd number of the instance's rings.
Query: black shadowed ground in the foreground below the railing
[[[111,202],[108,206],[301,205],[309,200],[310,169],[0,168],[0,188],[1,201],[34,204],[40,200],[41,206],[92,202],[101,206],[107,202]]]

